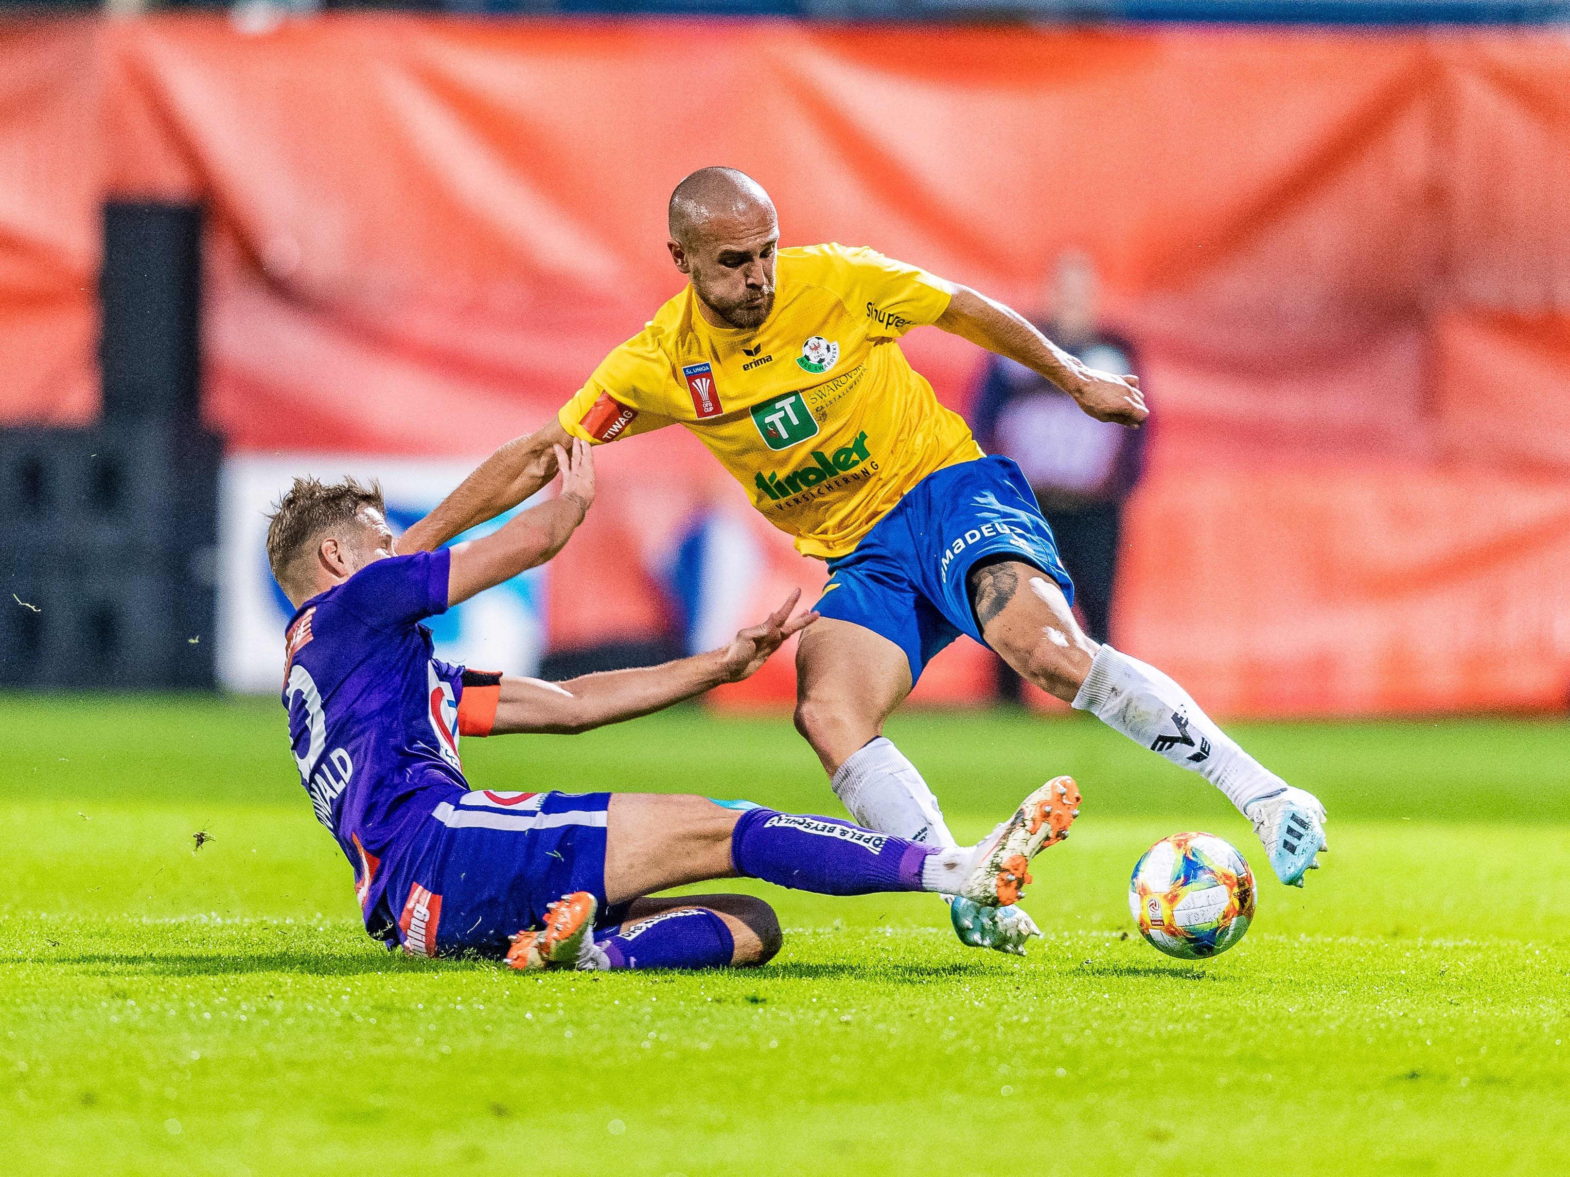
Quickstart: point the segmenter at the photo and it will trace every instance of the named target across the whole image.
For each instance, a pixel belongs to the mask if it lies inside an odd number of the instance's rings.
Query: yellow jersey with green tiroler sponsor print
[[[871,250],[780,250],[761,326],[710,325],[688,286],[559,419],[590,443],[685,425],[799,552],[845,556],[917,482],[981,457],[895,342],[948,298],[942,279]]]

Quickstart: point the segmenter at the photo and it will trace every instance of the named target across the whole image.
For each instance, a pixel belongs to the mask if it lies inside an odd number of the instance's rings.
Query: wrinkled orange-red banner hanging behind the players
[[[1025,309],[1060,250],[1096,256],[1157,406],[1119,642],[1201,701],[1564,705],[1557,33],[0,28],[0,419],[93,411],[97,201],[199,198],[231,444],[482,454],[677,289],[664,201],[716,162],[763,180],[787,243],[873,245]],[[973,348],[907,350],[962,405]],[[615,554],[741,502],[674,435],[604,452],[559,643],[656,626]],[[771,587],[821,581],[766,551]],[[923,689],[970,695],[978,658]],[[782,665],[741,697],[788,687]]]

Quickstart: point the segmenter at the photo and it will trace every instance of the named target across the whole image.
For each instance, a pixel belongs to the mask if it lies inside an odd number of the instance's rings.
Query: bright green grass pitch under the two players
[[[5,1172],[1565,1171],[1557,720],[1239,725],[1330,807],[1295,891],[1209,786],[1093,722],[903,716],[961,836],[1080,780],[1025,960],[961,948],[931,896],[746,885],[787,927],[766,968],[542,978],[364,937],[276,703],[8,697],[0,731]],[[838,811],[783,717],[465,753],[491,788]],[[1124,898],[1184,829],[1261,877],[1203,965],[1130,934]]]

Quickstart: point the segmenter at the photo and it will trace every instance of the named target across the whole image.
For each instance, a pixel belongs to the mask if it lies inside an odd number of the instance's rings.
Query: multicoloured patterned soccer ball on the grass
[[[1254,918],[1254,873],[1214,833],[1174,833],[1134,865],[1129,912],[1140,935],[1167,956],[1220,956]]]

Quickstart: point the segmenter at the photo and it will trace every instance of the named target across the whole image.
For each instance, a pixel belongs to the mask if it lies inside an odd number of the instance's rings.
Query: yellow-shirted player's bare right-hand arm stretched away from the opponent
[[[1149,416],[1138,377],[1085,367],[1022,314],[969,286],[955,287],[936,326],[1039,372],[1097,421],[1140,425]]]

